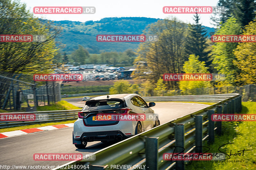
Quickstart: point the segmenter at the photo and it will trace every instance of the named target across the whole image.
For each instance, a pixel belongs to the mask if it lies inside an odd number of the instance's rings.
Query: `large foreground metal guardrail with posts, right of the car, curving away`
[[[74,165],[76,167],[89,165],[90,170],[108,170],[111,169],[111,165],[132,165],[130,168],[132,170],[135,169],[134,165],[145,165],[147,170],[172,169],[174,166],[175,169],[184,170],[185,165],[181,161],[163,160],[163,154],[172,153],[174,146],[185,148],[185,151],[180,152],[200,153],[203,141],[208,139],[208,142],[214,142],[215,131],[218,135],[221,134],[221,122],[213,122],[211,115],[239,113],[242,109],[239,94],[144,97],[144,99],[163,101],[175,97],[182,98],[179,99],[180,101],[199,100],[199,98],[204,98],[204,101],[210,98],[212,101],[218,98],[219,102],[94,152],[96,159],[93,161],[71,161],[60,166],[59,169],[64,166],[66,168],[75,167]],[[176,151],[179,152],[177,149]]]

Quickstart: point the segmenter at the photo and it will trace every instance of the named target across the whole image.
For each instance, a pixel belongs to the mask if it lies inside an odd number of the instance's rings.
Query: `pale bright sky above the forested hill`
[[[164,14],[164,6],[216,6],[218,0],[20,0],[27,4],[28,10],[33,13],[35,6],[94,6],[95,14],[34,14],[38,18],[54,21],[70,20],[85,22],[97,21],[106,17],[148,17],[170,18],[176,17],[185,23],[194,23],[194,14]],[[200,22],[204,26],[214,27],[211,24],[212,14],[200,14]]]

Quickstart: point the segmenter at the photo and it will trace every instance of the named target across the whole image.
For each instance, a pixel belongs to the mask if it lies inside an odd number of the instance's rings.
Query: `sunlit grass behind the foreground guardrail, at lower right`
[[[256,102],[243,102],[242,103],[242,114],[255,114],[256,113]],[[244,162],[195,162],[193,161],[191,165],[187,165],[186,169],[197,170],[197,169],[207,169],[207,170],[226,170],[226,169],[256,169],[256,122],[222,122],[222,135],[215,136],[215,142],[212,145],[208,145],[205,142],[204,146],[211,148],[208,152],[219,152],[218,149],[221,145],[228,144],[221,148],[224,153],[232,154],[238,153],[243,149],[252,150],[244,151],[244,156],[231,156],[231,161],[244,160]],[[229,158],[226,155],[226,159]]]

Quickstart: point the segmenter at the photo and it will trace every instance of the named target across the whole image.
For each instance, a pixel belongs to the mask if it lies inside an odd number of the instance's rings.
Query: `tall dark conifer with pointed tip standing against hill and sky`
[[[204,61],[207,66],[211,64],[211,61],[208,61],[208,54],[210,51],[206,51],[208,44],[206,43],[206,30],[201,24],[199,24],[199,16],[196,13],[194,15],[194,21],[196,22],[194,25],[188,24],[188,33],[187,33],[187,41],[186,41],[186,52],[188,54],[195,54],[199,56],[200,61]]]

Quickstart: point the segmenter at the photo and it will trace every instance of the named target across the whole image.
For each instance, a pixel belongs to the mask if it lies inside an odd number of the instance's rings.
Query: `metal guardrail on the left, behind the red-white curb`
[[[17,126],[25,126],[31,124],[41,124],[41,123],[50,123],[50,122],[60,122],[60,121],[67,121],[67,120],[76,120],[78,118],[77,112],[78,110],[56,110],[56,111],[32,111],[32,112],[8,112],[8,113],[0,113],[1,115],[9,115],[11,114],[12,117],[18,115],[30,115],[35,117],[34,121],[0,121],[0,128],[6,127],[17,127]],[[22,116],[19,116],[22,117]]]

